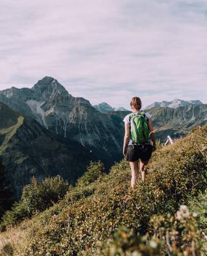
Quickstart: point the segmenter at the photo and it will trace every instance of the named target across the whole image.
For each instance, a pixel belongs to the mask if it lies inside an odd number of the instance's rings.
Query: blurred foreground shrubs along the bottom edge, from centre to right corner
[[[118,228],[112,238],[97,242],[98,255],[205,255],[205,237],[187,206],[181,205],[175,216],[152,216],[149,225],[149,233],[144,236],[126,227]],[[90,255],[87,249],[85,255]]]

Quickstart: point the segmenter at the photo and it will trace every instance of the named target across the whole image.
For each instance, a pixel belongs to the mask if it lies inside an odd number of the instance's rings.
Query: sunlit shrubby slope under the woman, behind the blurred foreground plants
[[[58,204],[0,235],[15,255],[96,255],[96,242],[126,225],[145,233],[152,214],[175,213],[206,187],[207,126],[198,127],[152,156],[146,183],[130,189],[125,160],[87,187],[75,187]]]

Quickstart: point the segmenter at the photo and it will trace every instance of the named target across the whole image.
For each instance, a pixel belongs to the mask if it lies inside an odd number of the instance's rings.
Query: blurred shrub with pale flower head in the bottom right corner
[[[151,235],[162,244],[162,255],[205,255],[205,236],[195,213],[181,205],[175,216],[153,216]]]

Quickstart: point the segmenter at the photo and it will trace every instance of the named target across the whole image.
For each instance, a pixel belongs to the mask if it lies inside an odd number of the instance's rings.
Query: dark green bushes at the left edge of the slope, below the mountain
[[[32,178],[32,183],[24,186],[21,200],[15,202],[12,209],[2,216],[0,229],[3,231],[9,225],[44,211],[63,198],[68,189],[68,182],[61,176],[45,178],[40,183],[37,183],[36,178]]]

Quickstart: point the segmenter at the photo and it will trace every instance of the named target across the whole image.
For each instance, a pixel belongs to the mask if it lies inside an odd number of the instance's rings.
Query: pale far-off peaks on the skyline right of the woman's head
[[[179,99],[175,99],[172,101],[162,101],[162,102],[154,102],[151,105],[148,105],[145,109],[148,108],[178,108],[178,107],[184,107],[187,105],[201,105],[202,102],[200,100],[179,100]]]

